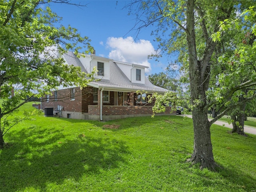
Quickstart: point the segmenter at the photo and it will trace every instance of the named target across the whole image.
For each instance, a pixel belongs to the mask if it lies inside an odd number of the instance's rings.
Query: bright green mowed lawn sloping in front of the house
[[[222,168],[212,172],[186,163],[193,151],[190,118],[34,118],[5,136],[8,145],[0,150],[2,192],[256,190],[256,135],[229,134],[228,128],[213,125],[214,157]]]

